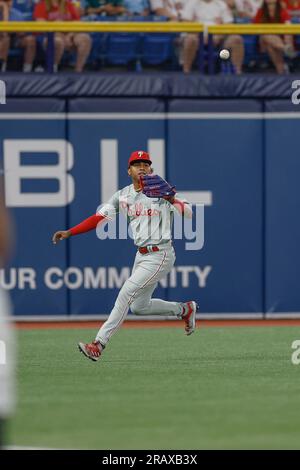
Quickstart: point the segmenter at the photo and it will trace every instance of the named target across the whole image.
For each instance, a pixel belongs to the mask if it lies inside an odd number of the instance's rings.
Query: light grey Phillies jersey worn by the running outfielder
[[[176,199],[187,202],[177,194]],[[149,198],[130,184],[117,191],[97,213],[113,220],[122,212],[130,224],[135,245],[141,247],[171,241],[174,211],[174,206],[165,199]]]

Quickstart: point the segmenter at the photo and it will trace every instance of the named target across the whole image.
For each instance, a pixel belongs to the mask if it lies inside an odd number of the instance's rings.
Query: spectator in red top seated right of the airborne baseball
[[[290,23],[290,15],[282,7],[281,0],[264,0],[254,19],[255,23]],[[284,62],[284,55],[294,58],[297,53],[294,49],[292,36],[264,34],[259,38],[262,52],[267,52],[273,62],[277,73],[288,72]]]

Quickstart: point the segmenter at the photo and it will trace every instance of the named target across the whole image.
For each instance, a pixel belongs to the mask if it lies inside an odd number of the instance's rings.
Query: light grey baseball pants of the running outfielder
[[[114,308],[100,328],[96,340],[105,345],[126,318],[129,308],[141,315],[179,315],[180,304],[152,299],[157,283],[172,269],[175,252],[172,246],[142,255],[136,255],[132,274],[119,292]]]

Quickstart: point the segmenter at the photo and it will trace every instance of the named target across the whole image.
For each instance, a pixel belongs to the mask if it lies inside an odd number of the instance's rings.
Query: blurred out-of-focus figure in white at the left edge
[[[2,188],[0,179],[0,269],[4,268],[11,245],[11,228]],[[0,286],[0,449],[5,444],[7,419],[15,407],[15,339],[10,325],[10,310],[8,295]]]

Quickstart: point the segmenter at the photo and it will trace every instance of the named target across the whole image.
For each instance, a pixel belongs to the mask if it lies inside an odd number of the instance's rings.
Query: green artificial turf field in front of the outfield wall
[[[10,444],[64,449],[299,449],[298,327],[20,331]]]

